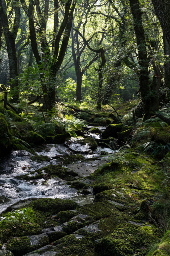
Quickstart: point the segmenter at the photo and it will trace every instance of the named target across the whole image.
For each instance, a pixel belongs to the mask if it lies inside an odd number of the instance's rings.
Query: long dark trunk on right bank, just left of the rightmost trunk
[[[148,117],[150,112],[150,88],[149,88],[149,72],[148,72],[148,58],[147,47],[145,40],[145,31],[142,24],[142,12],[138,0],[130,0],[131,11],[134,20],[134,30],[138,46],[139,55],[139,89],[145,111],[145,118]]]

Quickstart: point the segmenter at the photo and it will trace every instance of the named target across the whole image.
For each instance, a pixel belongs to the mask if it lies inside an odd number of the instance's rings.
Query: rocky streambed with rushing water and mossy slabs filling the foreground
[[[142,256],[161,238],[148,215],[159,167],[86,137],[3,159],[0,255]]]

